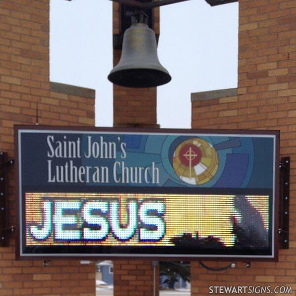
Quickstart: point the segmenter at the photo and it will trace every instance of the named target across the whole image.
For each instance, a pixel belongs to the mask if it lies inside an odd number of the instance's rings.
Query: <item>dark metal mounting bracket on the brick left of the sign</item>
[[[14,226],[7,226],[7,185],[8,185],[8,168],[14,164],[13,159],[8,159],[7,152],[0,152],[0,246],[7,245],[7,232],[14,231]]]

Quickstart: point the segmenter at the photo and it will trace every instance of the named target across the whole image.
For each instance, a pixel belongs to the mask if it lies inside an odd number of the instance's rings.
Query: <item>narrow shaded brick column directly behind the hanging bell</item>
[[[159,9],[154,11],[154,31],[159,31]],[[156,29],[156,30],[155,30]],[[119,5],[113,3],[113,34],[119,34]],[[114,65],[121,51],[114,50]],[[115,127],[158,127],[156,119],[156,88],[113,87]],[[152,260],[114,260],[114,296],[152,296]],[[159,272],[156,269],[158,295]]]

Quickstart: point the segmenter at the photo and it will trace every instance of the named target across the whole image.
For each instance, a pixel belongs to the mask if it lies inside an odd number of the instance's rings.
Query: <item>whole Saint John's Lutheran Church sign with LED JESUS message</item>
[[[277,132],[16,127],[17,257],[276,259]]]

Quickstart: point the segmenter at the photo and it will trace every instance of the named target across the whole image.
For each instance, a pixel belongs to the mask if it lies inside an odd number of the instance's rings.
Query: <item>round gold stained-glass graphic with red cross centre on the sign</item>
[[[193,138],[182,142],[175,150],[173,167],[178,177],[187,184],[209,182],[217,173],[219,158],[207,141]]]

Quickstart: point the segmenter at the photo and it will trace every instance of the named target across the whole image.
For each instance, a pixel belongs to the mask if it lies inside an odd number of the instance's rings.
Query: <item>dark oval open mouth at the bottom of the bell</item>
[[[156,87],[171,81],[170,74],[153,69],[126,69],[111,72],[108,79],[125,87]]]

